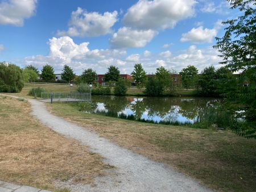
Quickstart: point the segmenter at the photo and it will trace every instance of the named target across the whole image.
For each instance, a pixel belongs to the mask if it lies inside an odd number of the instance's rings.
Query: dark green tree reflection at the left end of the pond
[[[130,103],[127,97],[116,97],[116,96],[98,96],[93,95],[92,102],[104,103],[106,110],[119,112],[124,110]]]

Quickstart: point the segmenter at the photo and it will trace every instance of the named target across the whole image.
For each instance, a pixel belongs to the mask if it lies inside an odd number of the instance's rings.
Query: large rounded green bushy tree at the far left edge
[[[19,66],[0,62],[0,92],[17,93],[23,86],[22,70]]]

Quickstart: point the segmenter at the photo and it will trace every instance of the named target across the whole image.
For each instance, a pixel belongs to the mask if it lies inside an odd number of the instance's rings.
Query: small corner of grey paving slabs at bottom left
[[[0,181],[0,192],[51,192],[42,189],[37,189],[35,187],[24,186],[24,185],[15,185],[13,183],[7,183]]]

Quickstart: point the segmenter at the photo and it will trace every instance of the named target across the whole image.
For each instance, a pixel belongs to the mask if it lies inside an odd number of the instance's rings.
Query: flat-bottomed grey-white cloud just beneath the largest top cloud
[[[112,48],[144,47],[158,34],[152,30],[133,30],[128,27],[119,28],[110,39]]]

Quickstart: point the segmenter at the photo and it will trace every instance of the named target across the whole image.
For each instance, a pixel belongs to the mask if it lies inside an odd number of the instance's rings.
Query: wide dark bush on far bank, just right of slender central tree
[[[164,86],[155,77],[149,77],[146,90],[144,91],[148,96],[160,96],[163,95]]]

